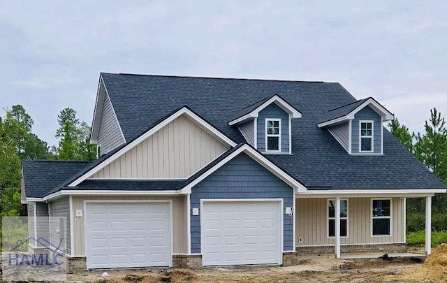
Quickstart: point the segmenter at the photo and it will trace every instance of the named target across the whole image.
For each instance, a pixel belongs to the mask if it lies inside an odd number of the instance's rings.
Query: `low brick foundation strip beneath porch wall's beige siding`
[[[366,253],[404,253],[406,244],[381,244],[381,245],[345,245],[341,247],[342,254],[366,254]],[[335,254],[334,246],[296,247],[298,256],[322,256]]]

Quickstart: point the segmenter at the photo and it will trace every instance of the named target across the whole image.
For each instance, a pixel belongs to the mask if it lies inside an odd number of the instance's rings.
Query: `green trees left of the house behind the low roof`
[[[58,144],[49,146],[33,133],[34,120],[21,105],[6,108],[0,117],[0,215],[27,215],[20,203],[23,159],[94,160],[96,146],[90,144],[91,128],[80,122],[72,108],[57,116]]]

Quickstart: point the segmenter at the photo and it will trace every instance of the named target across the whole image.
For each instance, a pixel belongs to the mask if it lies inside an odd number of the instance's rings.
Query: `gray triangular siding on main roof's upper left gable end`
[[[105,90],[100,89],[100,92],[105,92]],[[101,154],[110,152],[110,150],[113,150],[124,143],[124,137],[119,128],[119,123],[115,116],[115,112],[113,111],[112,103],[110,102],[108,94],[105,93],[98,132],[98,145],[101,145]]]

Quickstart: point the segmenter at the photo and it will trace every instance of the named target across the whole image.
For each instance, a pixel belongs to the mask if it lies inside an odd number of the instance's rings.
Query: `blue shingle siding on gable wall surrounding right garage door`
[[[203,198],[283,198],[284,208],[293,207],[293,189],[244,153],[192,188],[191,210],[200,209]],[[284,250],[291,251],[293,216],[284,208]],[[191,214],[191,252],[200,254],[200,215]]]

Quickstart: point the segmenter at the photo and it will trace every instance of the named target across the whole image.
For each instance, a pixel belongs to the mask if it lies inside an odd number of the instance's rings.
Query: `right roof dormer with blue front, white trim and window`
[[[383,154],[383,122],[394,115],[372,97],[324,113],[318,127],[328,129],[351,155]]]

